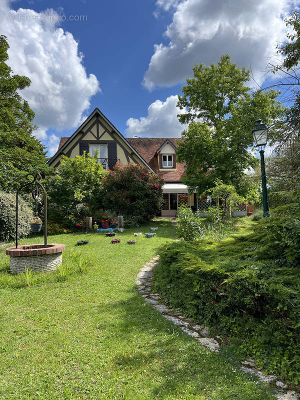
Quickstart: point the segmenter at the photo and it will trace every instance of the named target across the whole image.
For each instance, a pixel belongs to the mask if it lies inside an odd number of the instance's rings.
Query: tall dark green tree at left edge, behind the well
[[[32,136],[34,112],[18,93],[30,79],[12,74],[8,48],[0,35],[0,188],[6,191],[15,190],[26,173],[48,171],[44,146]]]

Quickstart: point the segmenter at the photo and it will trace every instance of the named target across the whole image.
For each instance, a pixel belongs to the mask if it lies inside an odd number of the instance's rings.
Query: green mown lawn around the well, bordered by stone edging
[[[134,231],[153,224],[154,238],[127,245]],[[50,236],[49,242],[66,245],[67,276],[33,273],[30,286],[25,275],[8,272],[0,249],[0,399],[273,398],[271,389],[199,345],[137,294],[142,264],[175,238],[171,223],[155,221],[118,236],[119,244],[95,233]],[[89,243],[77,247],[82,238]],[[42,238],[22,243],[37,241]]]

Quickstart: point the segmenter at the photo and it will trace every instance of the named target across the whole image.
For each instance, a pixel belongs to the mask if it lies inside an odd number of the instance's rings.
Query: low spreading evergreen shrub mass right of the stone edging
[[[299,219],[281,219],[280,225],[277,218],[263,218],[253,226],[254,232],[240,228],[241,233],[222,241],[209,237],[166,244],[159,250],[155,291],[174,310],[227,338],[231,355],[233,350],[242,359],[253,357],[258,368],[297,384]],[[276,237],[282,240],[286,233],[284,245],[278,243]],[[266,247],[267,243],[272,245]],[[288,258],[291,252],[296,252],[294,262]],[[277,262],[279,253],[285,254],[283,263]]]

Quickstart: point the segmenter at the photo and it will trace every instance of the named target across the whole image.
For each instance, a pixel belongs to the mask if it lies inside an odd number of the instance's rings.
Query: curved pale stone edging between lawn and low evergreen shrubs
[[[158,264],[159,256],[156,255],[149,262],[146,262],[137,274],[135,283],[137,284],[138,292],[142,297],[152,305],[157,311],[161,312],[162,316],[177,325],[183,332],[192,336],[202,346],[205,346],[211,351],[217,352],[219,350],[220,336],[209,337],[209,329],[203,325],[198,325],[191,319],[186,318],[180,312],[173,312],[165,304],[161,303],[161,297],[159,293],[152,293],[152,278],[155,267]],[[287,390],[287,386],[275,375],[264,375],[261,371],[255,369],[255,361],[248,359],[241,362],[240,370],[251,375],[256,376],[259,380],[277,387],[275,397],[278,400],[299,400],[298,393],[293,390]]]

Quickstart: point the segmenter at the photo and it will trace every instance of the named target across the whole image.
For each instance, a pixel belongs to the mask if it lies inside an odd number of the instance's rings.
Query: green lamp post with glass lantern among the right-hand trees
[[[260,153],[263,216],[270,216],[267,203],[265,167],[264,167],[264,147],[267,141],[267,127],[263,122],[261,122],[261,119],[257,119],[257,121],[255,122],[254,129],[252,130],[252,135],[255,145]]]

